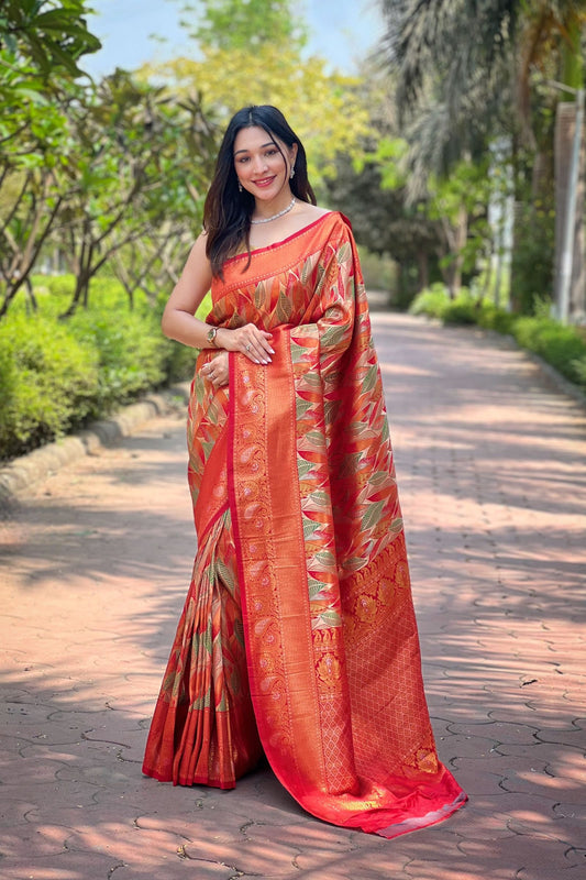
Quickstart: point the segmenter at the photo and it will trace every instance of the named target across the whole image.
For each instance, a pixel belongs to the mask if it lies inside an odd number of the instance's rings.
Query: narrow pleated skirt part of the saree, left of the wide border
[[[234,788],[262,756],[226,503],[226,405],[225,393],[212,395],[194,382],[188,477],[198,552],[143,765],[144,773],[164,782],[221,789]]]

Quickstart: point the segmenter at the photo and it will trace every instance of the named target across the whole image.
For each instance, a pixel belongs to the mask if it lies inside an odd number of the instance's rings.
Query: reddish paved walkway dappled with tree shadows
[[[195,550],[183,415],[1,527],[2,880],[586,877],[586,418],[506,342],[377,314],[441,757],[469,793],[397,840],[141,776]]]

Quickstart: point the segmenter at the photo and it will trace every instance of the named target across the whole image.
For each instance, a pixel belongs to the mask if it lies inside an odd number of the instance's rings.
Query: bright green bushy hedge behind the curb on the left
[[[192,375],[197,352],[161,332],[163,304],[137,296],[130,309],[117,282],[99,282],[96,305],[64,321],[73,278],[35,278],[38,311],[19,305],[0,323],[0,460]]]

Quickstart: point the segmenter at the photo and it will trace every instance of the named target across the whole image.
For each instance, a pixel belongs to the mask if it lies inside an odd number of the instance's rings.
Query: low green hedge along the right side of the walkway
[[[581,328],[562,324],[543,314],[534,317],[511,315],[491,302],[478,301],[466,289],[455,299],[450,299],[442,284],[422,290],[409,310],[412,315],[428,315],[444,323],[476,323],[508,333],[523,349],[539,354],[571,382],[586,389],[586,334]],[[544,311],[543,308],[539,310]]]

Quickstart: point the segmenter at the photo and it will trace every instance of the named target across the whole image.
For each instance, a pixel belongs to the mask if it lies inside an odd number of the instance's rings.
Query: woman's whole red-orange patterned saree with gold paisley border
[[[439,761],[380,371],[350,226],[224,265],[209,323],[269,331],[189,408],[198,553],[143,770],[232,788],[263,751],[309,813],[396,837],[466,795]]]

